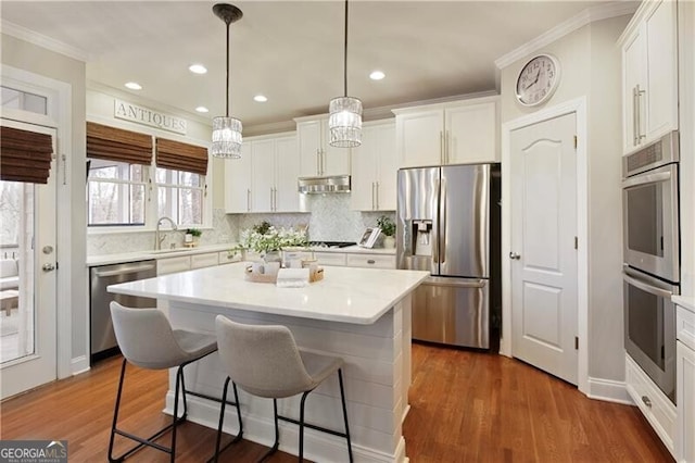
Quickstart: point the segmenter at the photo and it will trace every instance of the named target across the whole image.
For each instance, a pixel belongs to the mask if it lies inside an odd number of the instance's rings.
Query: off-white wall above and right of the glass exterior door
[[[87,270],[86,260],[86,211],[85,211],[85,179],[84,175],[72,173],[85,172],[85,63],[63,54],[55,53],[34,46],[24,40],[2,35],[2,63],[34,74],[50,77],[68,84],[72,87],[72,147],[67,155],[67,185],[59,186],[59,196],[66,198],[65,208],[60,211],[59,242],[65,237],[68,249],[58,249],[59,272],[68,275],[70,308],[71,308],[71,356],[74,363],[84,361],[89,354],[87,337],[88,304],[87,304]],[[61,140],[59,139],[59,147]],[[59,148],[60,149],[60,148]],[[63,152],[61,151],[61,154]],[[65,265],[64,256],[70,256],[70,265]],[[59,278],[62,278],[59,276]],[[59,299],[60,299],[59,295]],[[64,333],[59,336],[64,336]],[[59,367],[60,368],[60,367]]]

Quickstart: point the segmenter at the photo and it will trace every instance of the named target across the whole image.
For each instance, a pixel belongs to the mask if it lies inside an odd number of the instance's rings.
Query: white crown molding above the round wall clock
[[[574,30],[591,24],[595,21],[608,20],[616,16],[624,16],[627,14],[634,14],[637,10],[639,2],[634,1],[617,1],[605,4],[599,4],[582,11],[573,17],[558,24],[552,29],[541,34],[533,40],[522,45],[521,47],[511,50],[509,53],[495,60],[495,66],[498,70],[507,67],[514,62],[528,57],[530,53],[553,43],[554,41],[565,37],[566,35],[573,33]]]

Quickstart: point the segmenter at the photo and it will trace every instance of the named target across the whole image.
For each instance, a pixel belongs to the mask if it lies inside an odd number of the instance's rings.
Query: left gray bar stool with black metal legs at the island
[[[116,341],[118,342],[124,359],[121,366],[116,404],[113,411],[113,424],[111,426],[111,438],[109,440],[109,461],[121,462],[140,450],[143,446],[148,446],[168,453],[170,461],[174,462],[176,456],[176,427],[186,421],[186,413],[188,411],[186,404],[186,385],[184,383],[184,366],[216,351],[217,341],[212,335],[184,329],[172,329],[172,325],[169,325],[164,313],[157,309],[129,309],[117,302],[111,302],[111,317],[116,334]],[[126,364],[128,362],[148,370],[178,367],[176,372],[176,396],[172,423],[147,439],[118,429],[116,426],[121,406],[121,393],[126,375]],[[184,414],[181,416],[178,416],[179,389],[182,391],[184,398]],[[210,399],[219,400],[214,398]],[[168,429],[172,429],[172,447],[167,448],[156,443],[155,440]],[[113,456],[113,445],[116,434],[139,443],[121,456]]]

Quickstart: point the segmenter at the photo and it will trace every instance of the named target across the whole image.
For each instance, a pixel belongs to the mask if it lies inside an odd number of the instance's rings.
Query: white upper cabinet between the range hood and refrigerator
[[[399,167],[395,121],[364,124],[362,145],[352,149],[351,208],[357,211],[394,211]]]

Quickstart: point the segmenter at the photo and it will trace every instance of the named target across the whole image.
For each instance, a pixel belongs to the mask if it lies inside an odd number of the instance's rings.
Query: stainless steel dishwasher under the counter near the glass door
[[[135,281],[156,276],[156,261],[128,262],[90,268],[89,333],[90,360],[94,363],[119,352],[111,321],[111,301],[129,308],[154,308],[156,299],[114,295],[106,291],[109,285]]]

